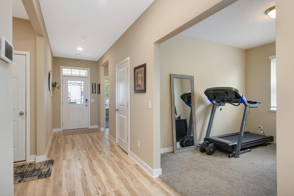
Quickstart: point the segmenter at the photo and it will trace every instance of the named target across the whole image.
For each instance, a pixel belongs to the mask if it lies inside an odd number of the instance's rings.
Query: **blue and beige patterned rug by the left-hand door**
[[[14,184],[51,176],[54,160],[14,166]]]

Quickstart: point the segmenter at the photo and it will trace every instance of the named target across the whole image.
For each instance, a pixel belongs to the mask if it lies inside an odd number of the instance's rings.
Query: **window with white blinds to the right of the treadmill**
[[[270,111],[277,110],[276,57],[270,56]]]

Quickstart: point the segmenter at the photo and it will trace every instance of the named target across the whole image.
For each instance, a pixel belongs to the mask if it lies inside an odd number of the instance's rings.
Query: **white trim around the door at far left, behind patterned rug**
[[[14,54],[26,55],[26,162],[31,157],[31,103],[30,103],[30,52],[14,50]]]

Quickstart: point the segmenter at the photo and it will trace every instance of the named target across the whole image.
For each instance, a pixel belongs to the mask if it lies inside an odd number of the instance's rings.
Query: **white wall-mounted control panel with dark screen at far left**
[[[0,39],[0,58],[13,64],[13,45],[4,36]]]

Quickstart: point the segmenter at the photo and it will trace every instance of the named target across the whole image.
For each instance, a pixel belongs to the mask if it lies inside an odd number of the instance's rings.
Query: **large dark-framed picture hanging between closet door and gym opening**
[[[146,93],[146,63],[134,68],[134,93]]]

